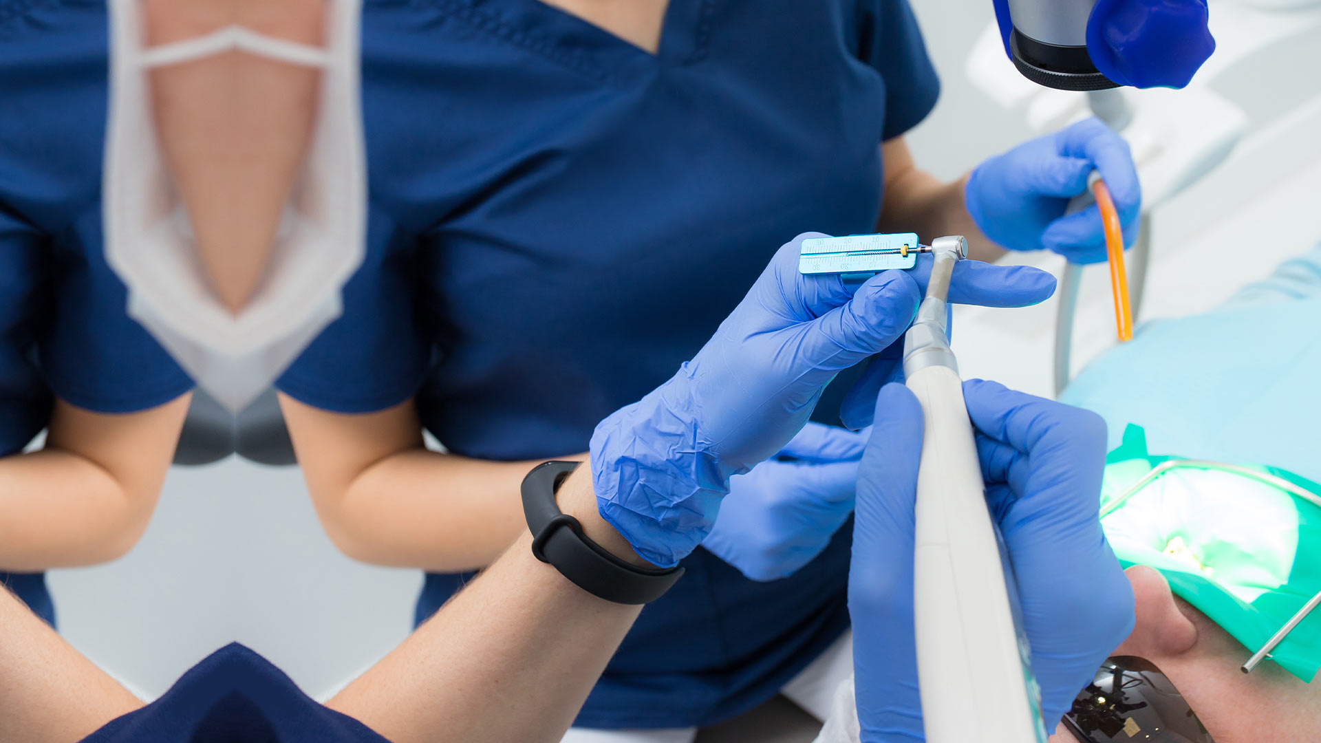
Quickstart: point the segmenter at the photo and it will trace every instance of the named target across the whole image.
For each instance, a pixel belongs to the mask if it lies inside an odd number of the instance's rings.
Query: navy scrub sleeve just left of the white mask
[[[38,340],[55,395],[95,412],[136,412],[193,389],[193,381],[128,316],[128,290],[106,263],[100,214],[54,241],[53,316]]]

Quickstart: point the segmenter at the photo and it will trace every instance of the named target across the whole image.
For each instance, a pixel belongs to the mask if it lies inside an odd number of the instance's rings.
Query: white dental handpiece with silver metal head
[[[926,297],[904,337],[904,374],[925,420],[913,599],[926,740],[1046,743],[1013,570],[946,334],[950,276],[967,241],[938,238],[931,253]]]

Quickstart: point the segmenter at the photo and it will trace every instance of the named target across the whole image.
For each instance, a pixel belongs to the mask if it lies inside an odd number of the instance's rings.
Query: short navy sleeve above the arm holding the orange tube
[[[915,127],[941,95],[941,79],[906,0],[861,0],[857,57],[885,79],[881,141]]]

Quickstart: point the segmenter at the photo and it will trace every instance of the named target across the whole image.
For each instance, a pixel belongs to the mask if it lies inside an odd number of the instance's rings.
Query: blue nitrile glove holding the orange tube
[[[983,234],[1008,250],[1053,250],[1074,263],[1106,259],[1096,205],[1065,215],[1100,171],[1119,210],[1124,246],[1137,235],[1143,193],[1128,143],[1095,116],[982,163],[963,192]]]

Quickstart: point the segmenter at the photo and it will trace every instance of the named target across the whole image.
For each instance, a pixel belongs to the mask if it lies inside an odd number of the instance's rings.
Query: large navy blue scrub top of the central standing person
[[[490,460],[585,451],[782,243],[872,231],[878,144],[939,90],[905,0],[671,0],[655,56],[536,0],[369,0],[363,25],[367,259],[279,387],[341,412],[416,395]],[[773,583],[697,550],[577,724],[775,694],[848,624],[849,534]],[[428,575],[417,619],[464,579]]]

